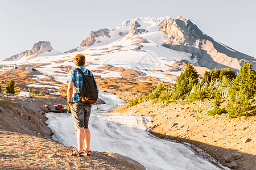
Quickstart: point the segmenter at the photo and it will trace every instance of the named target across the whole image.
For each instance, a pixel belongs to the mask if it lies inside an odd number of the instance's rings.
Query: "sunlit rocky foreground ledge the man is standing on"
[[[0,169],[144,169],[138,162],[112,152],[68,156],[75,148],[33,135],[0,131],[0,139]]]

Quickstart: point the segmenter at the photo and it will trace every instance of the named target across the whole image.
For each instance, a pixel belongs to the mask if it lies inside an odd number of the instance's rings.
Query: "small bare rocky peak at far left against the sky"
[[[35,57],[39,53],[43,53],[43,52],[47,52],[47,51],[51,52],[52,49],[53,48],[51,46],[51,42],[49,42],[49,41],[39,41],[39,42],[37,42],[33,45],[31,50],[26,50],[22,53],[19,53],[19,54],[16,54],[14,56],[11,56],[9,58],[6,58],[3,61],[14,61],[14,60],[20,59],[22,57],[27,57],[27,56],[32,56],[32,55],[34,55],[34,57]]]

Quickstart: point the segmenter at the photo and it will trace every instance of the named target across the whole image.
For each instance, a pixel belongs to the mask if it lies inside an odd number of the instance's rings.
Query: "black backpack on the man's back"
[[[90,70],[88,70],[87,75],[79,68],[76,70],[82,74],[82,90],[79,93],[81,101],[87,104],[96,103],[98,100],[98,89],[94,77],[90,75]]]

